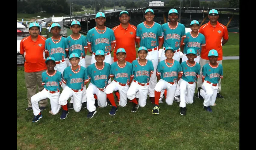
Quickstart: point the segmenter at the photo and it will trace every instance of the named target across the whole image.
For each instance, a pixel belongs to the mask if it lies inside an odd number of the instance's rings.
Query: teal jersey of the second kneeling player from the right
[[[197,82],[197,78],[200,77],[201,66],[197,62],[194,65],[189,64],[188,61],[181,63],[182,79],[187,82]]]

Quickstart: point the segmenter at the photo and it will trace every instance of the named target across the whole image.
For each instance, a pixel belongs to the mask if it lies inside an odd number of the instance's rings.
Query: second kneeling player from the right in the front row
[[[195,49],[187,49],[187,61],[181,63],[182,78],[180,79],[180,114],[186,115],[186,104],[193,103],[195,93],[195,83],[200,76],[201,66],[194,61],[196,57]],[[177,91],[177,90],[176,90]]]

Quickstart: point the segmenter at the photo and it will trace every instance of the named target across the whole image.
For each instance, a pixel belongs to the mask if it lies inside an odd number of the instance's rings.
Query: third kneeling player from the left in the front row
[[[96,62],[87,67],[87,73],[91,80],[89,86],[86,89],[87,109],[89,111],[87,118],[92,118],[96,111],[95,98],[96,94],[99,107],[107,106],[107,95],[105,93],[105,87],[108,85],[108,79],[110,78],[110,64],[103,62],[105,59],[104,51],[97,50],[95,52]]]

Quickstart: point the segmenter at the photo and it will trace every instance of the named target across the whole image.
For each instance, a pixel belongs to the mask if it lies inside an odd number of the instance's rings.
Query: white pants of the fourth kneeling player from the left
[[[119,91],[120,94],[120,101],[119,105],[121,107],[125,107],[127,104],[127,91],[129,89],[129,85],[126,83],[125,86],[119,85],[119,82],[115,82],[114,80],[106,87],[105,93],[110,94],[114,91]]]

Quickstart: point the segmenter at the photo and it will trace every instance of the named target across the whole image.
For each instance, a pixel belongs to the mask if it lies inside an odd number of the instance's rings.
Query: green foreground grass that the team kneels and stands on
[[[203,101],[196,99],[187,105],[186,116],[180,115],[179,103],[168,106],[165,101],[155,116],[148,99],[136,113],[128,102],[115,116],[108,114],[108,106],[97,108],[92,119],[82,109],[79,113],[70,110],[61,120],[61,113],[48,113],[48,103],[37,123],[32,123],[33,112],[25,111],[27,89],[24,72],[19,70],[17,149],[239,149],[239,60],[223,60],[223,68],[221,93],[225,98],[216,100],[213,113],[205,112]]]

